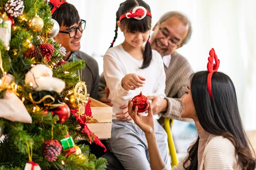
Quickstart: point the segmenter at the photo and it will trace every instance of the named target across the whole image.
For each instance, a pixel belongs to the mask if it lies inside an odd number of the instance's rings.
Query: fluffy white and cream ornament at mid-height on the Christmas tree
[[[61,93],[65,87],[65,82],[52,77],[52,70],[46,65],[35,65],[26,73],[25,83],[32,86],[35,91],[55,91]]]

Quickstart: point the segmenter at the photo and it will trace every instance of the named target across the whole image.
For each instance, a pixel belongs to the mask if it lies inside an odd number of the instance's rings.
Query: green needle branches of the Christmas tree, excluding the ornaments
[[[8,0],[0,0],[0,17],[4,14],[4,6]],[[44,158],[44,142],[51,139],[60,141],[64,139],[67,131],[70,136],[73,136],[76,142],[77,138],[89,140],[87,134],[81,133],[81,127],[76,121],[76,118],[71,115],[64,123],[58,123],[59,117],[52,115],[52,110],[44,103],[33,104],[29,98],[29,93],[36,97],[38,92],[33,91],[29,85],[25,85],[25,75],[32,68],[32,64],[45,64],[52,68],[53,77],[64,80],[66,87],[61,94],[53,92],[39,93],[49,94],[51,96],[58,96],[55,99],[62,99],[68,91],[72,90],[77,82],[79,82],[78,71],[85,67],[84,60],[75,59],[61,66],[56,64],[61,61],[62,55],[59,53],[60,45],[53,39],[45,39],[41,34],[47,32],[53,27],[51,22],[51,12],[45,0],[23,0],[24,11],[20,17],[13,17],[15,27],[12,26],[11,41],[7,48],[3,41],[0,40],[0,52],[3,62],[4,72],[12,74],[14,81],[18,85],[17,96],[20,99],[25,99],[25,105],[28,113],[32,117],[32,123],[12,122],[0,118],[0,125],[4,127],[5,139],[0,142],[0,170],[23,170],[26,162],[29,160],[27,145],[32,144],[32,160],[38,163],[42,170],[47,169],[83,169],[83,170],[104,170],[106,169],[106,159],[97,159],[93,154],[90,154],[88,146],[79,145],[82,154],[71,154],[65,156],[64,152],[58,156],[57,161],[49,162]],[[34,32],[29,28],[28,22],[38,14],[44,20],[44,28],[41,31]],[[52,58],[49,62],[44,61],[43,56],[35,59],[25,58],[23,54],[29,50],[31,45],[39,47],[42,43],[50,43],[54,46]],[[8,49],[8,50],[7,50]],[[0,69],[0,75],[3,72]],[[80,75],[81,76],[81,75]],[[0,98],[3,98],[5,91],[0,91]],[[39,95],[40,96],[40,95]],[[60,99],[60,100],[61,100]],[[15,105],[15,103],[10,103]],[[48,112],[46,112],[48,109]],[[10,113],[12,114],[12,113]],[[93,138],[93,136],[92,136]]]

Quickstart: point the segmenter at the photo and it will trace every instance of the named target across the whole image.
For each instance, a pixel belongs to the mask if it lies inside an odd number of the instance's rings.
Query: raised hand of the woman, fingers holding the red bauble
[[[135,110],[132,111],[132,102],[128,102],[128,113],[131,118],[134,120],[136,125],[138,125],[145,133],[152,133],[154,131],[154,119],[151,108],[151,103],[148,107],[148,116],[143,116],[140,113],[137,113],[138,107],[136,106]]]

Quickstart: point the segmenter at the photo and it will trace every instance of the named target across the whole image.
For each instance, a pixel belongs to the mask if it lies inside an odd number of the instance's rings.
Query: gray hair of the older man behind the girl
[[[163,23],[163,21],[167,20],[169,17],[177,17],[180,21],[182,21],[187,26],[188,34],[186,35],[184,40],[181,42],[181,44],[186,44],[189,41],[191,34],[192,34],[192,26],[191,26],[191,22],[190,22],[189,18],[185,14],[183,14],[179,11],[170,11],[170,12],[166,12],[165,14],[163,14],[160,17],[158,23]]]

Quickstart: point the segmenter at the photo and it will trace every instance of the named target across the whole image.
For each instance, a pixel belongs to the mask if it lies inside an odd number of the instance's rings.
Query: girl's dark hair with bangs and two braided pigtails
[[[119,21],[119,17],[122,14],[125,14],[131,11],[136,6],[143,6],[149,12],[151,12],[148,4],[146,4],[143,0],[126,0],[125,2],[120,4],[118,10],[116,11],[116,22]],[[124,19],[121,20],[121,24],[123,28],[126,29],[127,32],[146,32],[151,29],[151,17],[146,15],[145,18],[143,18],[142,20],[136,20],[134,18],[128,19],[125,17]],[[115,37],[113,39],[113,42],[116,41],[117,30],[118,30],[118,26],[116,23]],[[113,47],[113,43],[111,43],[111,46],[109,48],[111,47]],[[151,59],[152,59],[152,49],[151,49],[150,43],[147,41],[145,45],[145,51],[143,54],[143,65],[141,68],[147,68],[150,65]]]

